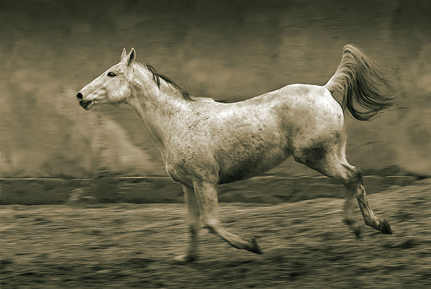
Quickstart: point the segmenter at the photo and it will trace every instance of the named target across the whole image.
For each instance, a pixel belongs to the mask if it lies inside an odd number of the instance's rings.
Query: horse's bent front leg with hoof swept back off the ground
[[[194,189],[209,232],[221,237],[236,249],[244,249],[256,254],[262,254],[255,239],[242,239],[222,227],[219,218],[219,201],[215,185],[199,183],[194,185]]]

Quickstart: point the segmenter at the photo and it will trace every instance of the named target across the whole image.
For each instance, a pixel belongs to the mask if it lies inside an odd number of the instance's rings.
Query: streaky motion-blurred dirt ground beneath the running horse
[[[230,231],[264,254],[236,250],[206,229],[200,258],[188,244],[183,204],[3,205],[3,288],[405,288],[431,285],[431,182],[369,196],[393,235],[342,222],[343,200],[221,204]]]

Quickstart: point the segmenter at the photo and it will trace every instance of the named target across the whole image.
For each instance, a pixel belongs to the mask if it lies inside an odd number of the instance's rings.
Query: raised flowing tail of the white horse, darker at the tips
[[[368,120],[392,106],[394,96],[383,95],[377,89],[386,85],[387,80],[380,76],[374,61],[356,47],[346,45],[337,71],[324,87],[343,96],[343,110],[347,108],[356,119]],[[353,101],[363,110],[355,108]]]

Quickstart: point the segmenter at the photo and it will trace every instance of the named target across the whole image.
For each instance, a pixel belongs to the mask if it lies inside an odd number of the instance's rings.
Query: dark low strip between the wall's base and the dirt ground
[[[367,194],[408,186],[414,176],[365,176]],[[218,187],[220,202],[293,202],[313,198],[342,198],[344,186],[324,176],[259,176]],[[91,197],[102,203],[180,203],[182,186],[168,177],[99,177],[94,179],[0,178],[1,204],[64,204],[71,197]]]

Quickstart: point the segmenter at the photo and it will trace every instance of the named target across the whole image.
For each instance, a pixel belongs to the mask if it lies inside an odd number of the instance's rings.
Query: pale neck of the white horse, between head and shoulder
[[[160,88],[148,75],[136,77],[133,82],[134,91],[127,103],[136,111],[151,139],[163,150],[172,130],[187,111],[187,101],[164,80],[160,80]]]

